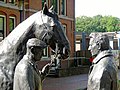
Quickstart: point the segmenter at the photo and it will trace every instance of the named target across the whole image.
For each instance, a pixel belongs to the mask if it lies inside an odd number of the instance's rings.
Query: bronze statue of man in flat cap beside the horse
[[[52,64],[45,65],[42,71],[36,67],[36,61],[41,59],[45,47],[46,43],[39,39],[28,40],[27,52],[15,68],[13,90],[42,90],[42,81]]]

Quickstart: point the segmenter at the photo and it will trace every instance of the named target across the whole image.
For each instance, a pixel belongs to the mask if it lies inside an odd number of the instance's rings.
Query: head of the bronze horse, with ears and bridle
[[[46,4],[41,13],[42,22],[35,22],[35,26],[37,27],[35,36],[47,43],[53,52],[60,54],[62,59],[68,58],[70,54],[70,44],[64,33],[63,25],[58,19],[58,15],[52,8],[48,9]],[[41,29],[42,31],[39,31]]]

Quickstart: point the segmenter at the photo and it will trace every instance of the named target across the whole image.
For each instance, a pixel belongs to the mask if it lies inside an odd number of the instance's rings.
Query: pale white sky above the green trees
[[[114,16],[120,18],[120,0],[75,0],[75,17]]]

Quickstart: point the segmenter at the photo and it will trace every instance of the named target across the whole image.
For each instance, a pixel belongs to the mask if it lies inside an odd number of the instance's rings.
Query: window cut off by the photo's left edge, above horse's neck
[[[0,41],[4,38],[5,31],[5,16],[0,15]]]

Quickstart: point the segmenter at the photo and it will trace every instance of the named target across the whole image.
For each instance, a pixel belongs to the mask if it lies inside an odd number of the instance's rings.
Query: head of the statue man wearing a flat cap
[[[37,38],[29,39],[27,42],[27,55],[32,57],[33,60],[39,61],[42,57],[43,49],[46,47],[46,43],[42,40]]]

